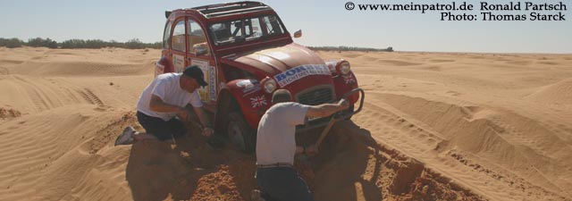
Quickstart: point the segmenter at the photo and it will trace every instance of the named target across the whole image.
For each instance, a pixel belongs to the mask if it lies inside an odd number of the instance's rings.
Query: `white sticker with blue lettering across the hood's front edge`
[[[330,70],[324,64],[307,64],[291,68],[274,76],[281,88],[309,75],[330,75]]]

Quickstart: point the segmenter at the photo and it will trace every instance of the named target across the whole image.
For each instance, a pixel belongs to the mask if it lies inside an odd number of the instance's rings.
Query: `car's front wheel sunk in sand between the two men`
[[[253,153],[257,147],[257,135],[255,130],[248,126],[241,113],[230,113],[226,123],[226,133],[231,142],[245,153]]]

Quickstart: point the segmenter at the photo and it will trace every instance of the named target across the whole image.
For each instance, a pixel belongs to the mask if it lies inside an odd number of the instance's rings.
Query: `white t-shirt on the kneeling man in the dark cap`
[[[177,115],[177,113],[158,113],[149,109],[151,95],[159,96],[165,104],[169,105],[184,107],[190,103],[193,107],[202,107],[203,102],[200,101],[197,90],[193,93],[189,93],[181,88],[179,84],[181,75],[182,73],[164,73],[158,75],[156,79],[143,90],[141,96],[139,96],[137,110],[149,116],[161,118],[164,121],[169,121],[172,117]]]

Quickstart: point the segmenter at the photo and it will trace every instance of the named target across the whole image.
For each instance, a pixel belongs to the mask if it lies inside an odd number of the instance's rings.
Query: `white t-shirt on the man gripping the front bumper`
[[[280,103],[268,109],[258,123],[257,164],[294,164],[296,125],[304,124],[310,106]]]

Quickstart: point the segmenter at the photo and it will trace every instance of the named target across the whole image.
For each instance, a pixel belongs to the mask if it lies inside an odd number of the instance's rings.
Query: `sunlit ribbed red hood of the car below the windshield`
[[[324,64],[324,60],[305,46],[289,44],[266,48],[256,52],[233,54],[225,57],[226,62],[242,63],[254,68],[254,71],[263,71],[269,76],[305,64]],[[230,64],[230,63],[229,63]]]

